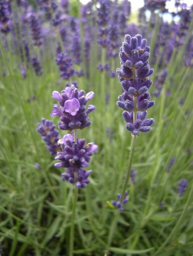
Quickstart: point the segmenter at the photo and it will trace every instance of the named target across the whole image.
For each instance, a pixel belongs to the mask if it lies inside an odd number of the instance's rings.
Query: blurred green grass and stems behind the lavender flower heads
[[[156,41],[154,32],[148,42],[152,48]],[[12,54],[11,45],[5,50],[1,44],[0,51],[1,69],[6,71],[6,76],[0,73],[3,255],[67,256],[73,186],[61,181],[63,169],[53,167],[54,157],[36,131],[42,117],[52,119],[57,126],[58,118],[49,116],[55,103],[52,91],[63,90],[65,81],[58,84],[60,75],[49,46],[43,49],[43,76],[35,76],[29,67],[26,79],[20,76],[20,57]],[[137,183],[128,185],[130,201],[118,218],[110,248],[112,255],[193,255],[193,158],[189,150],[193,148],[193,70],[184,66],[183,52],[184,45],[173,52],[161,96],[154,99],[156,105],[148,111],[148,118],[155,119],[153,130],[137,137],[132,165]],[[76,79],[79,89],[95,92],[90,104],[96,106],[95,113],[90,114],[92,125],[79,131],[78,137],[94,141],[98,153],[89,165],[93,170],[90,184],[79,189],[74,253],[102,256],[116,212],[106,201],[115,200],[121,191],[131,135],[124,128],[121,109],[116,106],[121,93],[118,78],[101,75],[96,69],[96,54],[93,45],[90,79]],[[115,67],[119,66],[117,59]],[[155,68],[155,84],[159,70],[157,64],[151,67]],[[170,96],[166,96],[167,90],[171,90]],[[104,105],[104,93],[110,94],[109,105]],[[33,95],[35,100],[28,102]],[[179,104],[181,97],[184,105]],[[107,128],[111,129],[110,136]],[[66,133],[60,131],[61,136]],[[167,173],[173,156],[176,161]],[[37,169],[35,163],[42,169]],[[178,198],[177,186],[182,178],[188,180],[188,186],[182,198]],[[158,206],[160,202],[164,203],[162,207]]]

